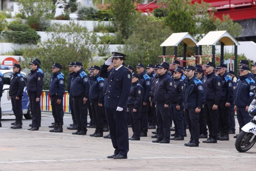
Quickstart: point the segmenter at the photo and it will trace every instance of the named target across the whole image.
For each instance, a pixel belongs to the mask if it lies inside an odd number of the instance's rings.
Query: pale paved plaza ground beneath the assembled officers
[[[48,126],[54,121],[51,113],[42,114],[38,131],[27,130],[31,120],[26,119],[22,129],[11,129],[14,121],[14,115],[2,117],[0,170],[255,170],[256,145],[239,153],[233,135],[229,141],[206,144],[202,143],[205,139],[200,139],[199,147],[186,147],[188,129],[184,141],[171,140],[170,144],[152,143],[153,130],[149,129],[148,137],[129,141],[128,159],[118,160],[106,158],[114,152],[111,139],[89,136],[94,128],[88,128],[84,136],[72,135],[74,131],[66,129],[72,121],[70,114],[64,116],[63,133],[49,132]]]

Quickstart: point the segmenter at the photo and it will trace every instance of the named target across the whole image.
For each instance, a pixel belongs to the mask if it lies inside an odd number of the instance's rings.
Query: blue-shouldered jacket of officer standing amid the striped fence
[[[57,95],[58,99],[62,99],[65,93],[65,80],[61,72],[53,73],[51,75],[51,82],[49,87],[50,96]]]

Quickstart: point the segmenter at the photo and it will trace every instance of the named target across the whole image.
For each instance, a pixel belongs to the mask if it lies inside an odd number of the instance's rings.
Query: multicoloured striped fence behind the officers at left
[[[69,108],[69,93],[65,92],[62,100],[64,113],[70,113]],[[51,101],[49,90],[43,90],[40,98],[41,111],[51,112]]]

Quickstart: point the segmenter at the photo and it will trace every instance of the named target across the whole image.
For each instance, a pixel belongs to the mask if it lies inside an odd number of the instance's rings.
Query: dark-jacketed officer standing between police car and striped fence
[[[34,60],[30,64],[31,71],[27,78],[27,93],[31,105],[32,124],[28,130],[38,130],[40,126],[41,109],[40,109],[40,96],[43,90],[43,74],[38,71],[40,64]]]

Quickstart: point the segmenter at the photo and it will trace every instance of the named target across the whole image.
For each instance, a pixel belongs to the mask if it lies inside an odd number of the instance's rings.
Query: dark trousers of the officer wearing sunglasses
[[[183,106],[180,106],[180,109],[177,110],[176,105],[176,103],[171,103],[170,106],[173,123],[175,126],[175,137],[184,137]]]

